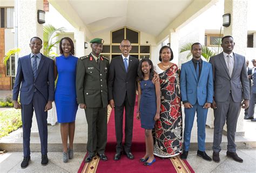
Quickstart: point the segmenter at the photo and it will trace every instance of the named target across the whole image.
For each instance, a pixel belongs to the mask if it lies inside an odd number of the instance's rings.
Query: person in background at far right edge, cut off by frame
[[[252,80],[250,104],[248,108],[247,117],[245,117],[244,119],[251,119],[251,121],[256,121],[256,118],[253,118],[255,103],[256,103],[256,60],[252,60],[252,64],[254,67],[251,69],[251,78],[250,78],[250,80]]]

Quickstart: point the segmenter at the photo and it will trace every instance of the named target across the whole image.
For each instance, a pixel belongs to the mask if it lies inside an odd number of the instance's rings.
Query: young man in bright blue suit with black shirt
[[[202,46],[199,42],[191,46],[193,58],[181,64],[180,89],[185,111],[184,145],[181,159],[185,160],[190,148],[191,130],[197,112],[197,155],[212,161],[205,153],[205,125],[208,108],[213,100],[212,65],[201,60]]]

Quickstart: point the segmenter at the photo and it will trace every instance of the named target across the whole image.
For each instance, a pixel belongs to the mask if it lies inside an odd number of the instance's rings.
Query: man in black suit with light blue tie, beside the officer
[[[129,40],[123,40],[119,46],[122,55],[114,57],[110,63],[108,89],[109,104],[114,108],[116,127],[116,154],[114,160],[120,160],[123,151],[123,113],[125,108],[125,142],[124,152],[129,159],[131,153],[133,111],[136,98],[136,79],[139,60],[129,55],[132,49]]]

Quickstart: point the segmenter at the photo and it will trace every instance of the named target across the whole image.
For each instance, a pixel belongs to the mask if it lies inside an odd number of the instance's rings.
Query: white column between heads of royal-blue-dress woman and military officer
[[[74,32],[75,39],[75,53],[77,57],[85,55],[84,42],[85,42],[85,31],[75,28]],[[88,46],[90,46],[88,44]]]

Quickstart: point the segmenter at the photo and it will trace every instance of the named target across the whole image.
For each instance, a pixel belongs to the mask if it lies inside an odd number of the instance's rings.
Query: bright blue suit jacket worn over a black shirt
[[[192,60],[181,64],[181,100],[187,100],[192,105],[198,101],[198,104],[203,106],[206,102],[212,103],[213,100],[212,65],[205,61],[202,62],[199,81],[197,81]]]

